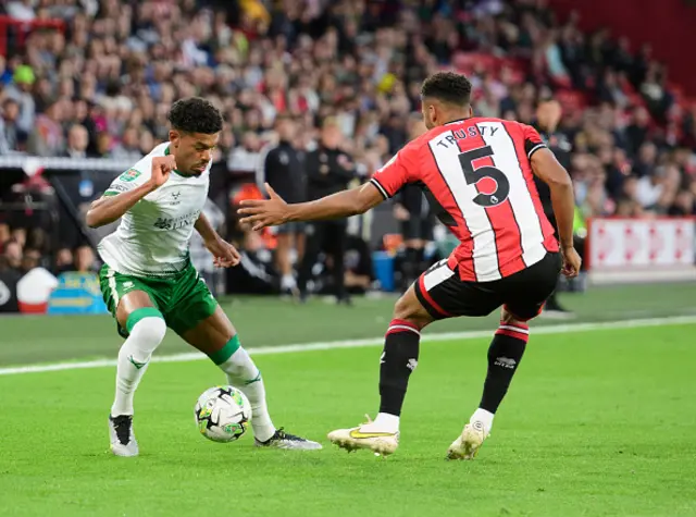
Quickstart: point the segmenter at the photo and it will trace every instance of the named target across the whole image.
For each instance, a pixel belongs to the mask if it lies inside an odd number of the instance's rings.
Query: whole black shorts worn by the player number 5
[[[517,319],[526,321],[542,312],[556,288],[561,270],[558,253],[547,253],[533,266],[493,282],[463,282],[447,260],[421,274],[415,295],[436,320],[457,316],[488,316],[501,305]]]

